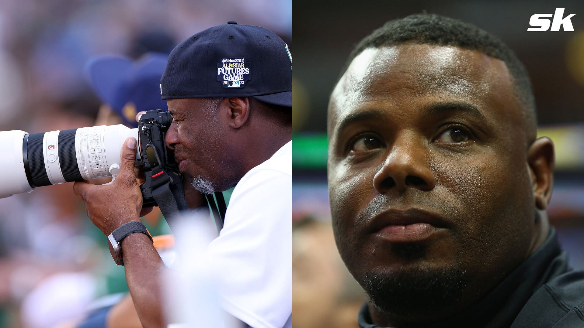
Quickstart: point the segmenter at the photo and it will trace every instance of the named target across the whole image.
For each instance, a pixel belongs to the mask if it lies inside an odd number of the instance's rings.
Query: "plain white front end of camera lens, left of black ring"
[[[4,173],[0,183],[0,198],[33,190],[26,177],[22,158],[22,140],[25,131],[0,132],[0,170]]]

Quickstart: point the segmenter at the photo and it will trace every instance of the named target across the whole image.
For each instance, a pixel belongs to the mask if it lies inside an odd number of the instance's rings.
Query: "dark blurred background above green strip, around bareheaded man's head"
[[[556,7],[566,8],[564,16],[576,14],[571,19],[575,32],[527,32],[531,15],[554,13]],[[332,85],[358,41],[387,20],[423,11],[477,25],[511,47],[531,76],[540,124],[584,121],[584,110],[576,110],[584,104],[582,1],[340,0],[330,5],[294,0],[294,79],[300,89],[295,100],[304,109],[294,121],[297,130],[324,130]]]

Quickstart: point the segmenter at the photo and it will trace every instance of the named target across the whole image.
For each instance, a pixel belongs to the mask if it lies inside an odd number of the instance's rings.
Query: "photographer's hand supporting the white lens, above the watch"
[[[91,222],[106,235],[126,222],[140,221],[142,193],[134,174],[136,146],[134,138],[124,142],[120,171],[113,182],[100,185],[75,182],[73,186],[74,193],[85,202]]]

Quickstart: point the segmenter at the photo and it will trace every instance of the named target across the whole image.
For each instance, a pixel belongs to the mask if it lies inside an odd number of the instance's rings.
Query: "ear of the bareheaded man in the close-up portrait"
[[[531,144],[527,151],[527,164],[536,207],[545,210],[550,203],[554,184],[554,143],[550,138],[541,137]]]

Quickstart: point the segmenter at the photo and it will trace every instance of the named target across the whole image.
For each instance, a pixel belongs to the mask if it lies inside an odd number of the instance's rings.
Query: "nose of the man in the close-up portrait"
[[[430,169],[427,142],[413,135],[402,135],[391,145],[383,165],[373,177],[373,187],[380,194],[392,190],[404,193],[408,187],[429,191],[436,186]]]

